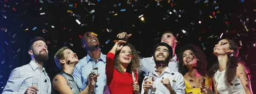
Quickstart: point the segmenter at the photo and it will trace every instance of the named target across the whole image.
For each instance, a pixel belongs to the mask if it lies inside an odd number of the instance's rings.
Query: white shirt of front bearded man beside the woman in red
[[[156,69],[155,69],[156,70]],[[155,94],[170,94],[170,91],[163,86],[163,83],[161,83],[161,80],[164,78],[168,78],[170,80],[170,84],[173,88],[173,90],[176,92],[176,94],[185,94],[185,82],[183,79],[183,76],[179,72],[172,71],[169,66],[161,73],[161,75],[158,75],[157,72],[154,73],[154,82],[153,87],[156,87]],[[143,83],[147,76],[145,76]],[[143,84],[142,86],[143,87]],[[141,90],[141,94],[144,94],[144,88]],[[151,94],[150,91],[148,91],[148,94]]]

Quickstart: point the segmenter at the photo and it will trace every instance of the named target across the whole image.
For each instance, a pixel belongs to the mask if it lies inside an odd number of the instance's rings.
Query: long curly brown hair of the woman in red
[[[131,73],[132,71],[133,72],[138,71],[138,74],[139,74],[140,73],[140,55],[137,53],[137,50],[135,50],[135,47],[132,44],[125,43],[123,45],[130,47],[131,48],[131,54],[133,55],[133,57],[131,59],[131,63],[128,64],[126,72]],[[118,59],[119,58],[119,53],[120,53],[120,51],[116,52],[114,67],[118,72],[124,73],[122,65],[121,65],[121,63],[119,62],[119,59]]]

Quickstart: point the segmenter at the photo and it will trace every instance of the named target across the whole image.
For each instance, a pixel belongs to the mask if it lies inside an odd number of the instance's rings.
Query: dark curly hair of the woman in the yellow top
[[[180,58],[178,63],[178,71],[184,76],[188,72],[188,68],[184,66],[183,62],[183,52],[186,50],[191,50],[195,56],[198,58],[199,61],[197,61],[198,65],[198,73],[202,76],[206,76],[207,71],[207,58],[204,55],[203,51],[200,49],[200,47],[194,45],[194,44],[187,44],[184,47],[180,49]]]

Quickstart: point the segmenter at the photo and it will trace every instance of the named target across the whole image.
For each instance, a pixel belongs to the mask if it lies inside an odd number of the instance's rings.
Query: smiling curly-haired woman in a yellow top
[[[211,88],[212,81],[206,75],[207,59],[200,47],[187,44],[180,49],[178,70],[183,75],[186,84],[186,94],[202,94],[201,88]],[[206,86],[202,86],[202,82]]]

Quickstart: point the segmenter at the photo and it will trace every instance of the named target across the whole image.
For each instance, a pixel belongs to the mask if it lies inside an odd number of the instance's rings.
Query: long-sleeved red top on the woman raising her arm
[[[107,54],[106,59],[106,76],[107,85],[111,94],[135,94],[135,91],[131,84],[133,84],[132,75],[128,72],[124,74],[118,72],[114,68],[113,53]]]

